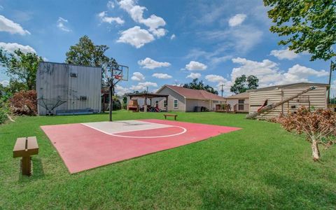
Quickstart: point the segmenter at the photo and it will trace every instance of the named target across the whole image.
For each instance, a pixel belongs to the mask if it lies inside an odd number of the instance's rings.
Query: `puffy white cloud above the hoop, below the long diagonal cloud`
[[[117,42],[129,43],[136,48],[141,48],[146,43],[154,41],[154,39],[154,36],[146,29],[141,29],[139,26],[135,26],[121,32],[121,36]]]

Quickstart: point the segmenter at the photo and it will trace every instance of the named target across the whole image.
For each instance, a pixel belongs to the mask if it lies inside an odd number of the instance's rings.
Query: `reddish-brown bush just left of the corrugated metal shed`
[[[20,91],[13,94],[9,99],[10,110],[18,115],[36,116],[37,113],[37,100],[36,91]]]

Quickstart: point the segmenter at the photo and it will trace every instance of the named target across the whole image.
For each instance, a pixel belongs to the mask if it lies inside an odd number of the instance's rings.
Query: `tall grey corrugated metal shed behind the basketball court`
[[[43,106],[50,109],[56,103],[64,104],[52,114],[100,112],[101,83],[100,67],[41,62],[36,73],[38,114],[47,114]]]

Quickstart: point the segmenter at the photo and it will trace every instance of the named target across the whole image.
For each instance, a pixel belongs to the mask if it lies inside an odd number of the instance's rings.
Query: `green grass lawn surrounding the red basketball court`
[[[181,121],[243,130],[69,174],[40,125],[108,117],[20,117],[0,125],[0,209],[336,208],[336,147],[313,162],[303,137],[240,114],[179,113]],[[118,111],[113,118],[162,119],[162,113]],[[25,136],[36,136],[40,146],[31,177],[20,175],[12,152],[15,139]]]

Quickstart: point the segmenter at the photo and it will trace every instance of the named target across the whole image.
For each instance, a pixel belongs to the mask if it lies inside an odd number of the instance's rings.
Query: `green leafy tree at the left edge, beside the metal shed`
[[[8,53],[0,49],[1,66],[6,68],[6,73],[13,81],[26,85],[27,90],[35,90],[36,71],[41,61],[42,57],[32,52],[15,50],[14,53]]]

